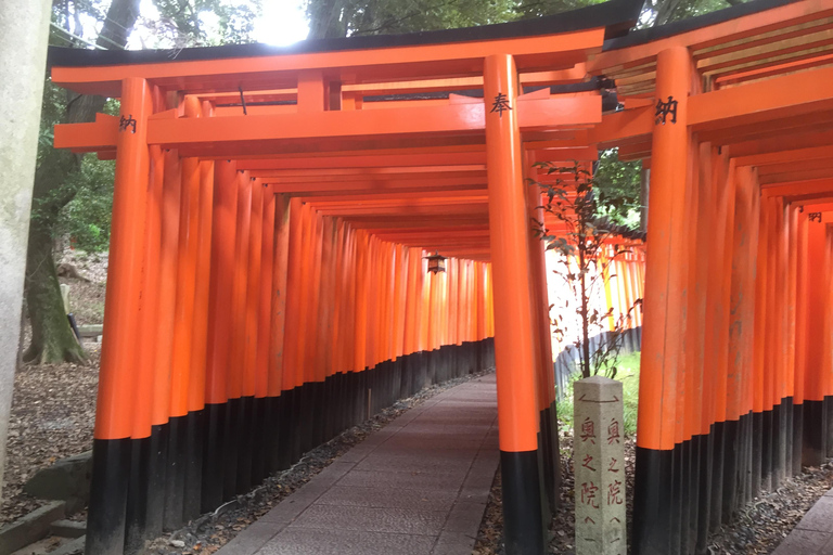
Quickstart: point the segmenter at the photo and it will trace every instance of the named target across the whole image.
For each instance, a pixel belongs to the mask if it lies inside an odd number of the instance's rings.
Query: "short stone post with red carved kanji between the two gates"
[[[573,384],[576,555],[626,555],[621,382]]]

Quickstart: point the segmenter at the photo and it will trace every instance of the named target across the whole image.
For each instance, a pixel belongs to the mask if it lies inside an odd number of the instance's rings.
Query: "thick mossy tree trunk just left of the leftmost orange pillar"
[[[113,0],[99,35],[101,47],[125,47],[128,29],[139,16],[139,2]],[[65,124],[93,121],[95,113],[104,107],[102,96],[72,96],[63,120]],[[47,364],[86,359],[66,318],[52,253],[57,216],[76,193],[67,181],[79,168],[79,156],[68,151],[50,150],[35,172],[26,255],[26,305],[31,322],[31,344],[23,354],[26,362]]]

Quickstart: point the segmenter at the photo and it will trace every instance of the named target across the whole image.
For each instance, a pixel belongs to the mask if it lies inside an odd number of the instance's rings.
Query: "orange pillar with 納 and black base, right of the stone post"
[[[674,47],[659,52],[656,68],[656,101],[669,109],[656,117],[651,159],[650,218],[642,364],[637,433],[637,481],[635,485],[635,553],[666,554],[671,551],[676,500],[674,482],[677,434],[678,367],[687,284],[682,275],[685,188],[689,159],[688,98],[691,88],[691,56]]]

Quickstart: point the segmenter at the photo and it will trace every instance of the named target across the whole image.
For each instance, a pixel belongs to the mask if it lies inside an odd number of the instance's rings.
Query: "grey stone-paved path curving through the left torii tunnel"
[[[411,409],[218,554],[470,555],[500,457],[496,396],[491,374]]]

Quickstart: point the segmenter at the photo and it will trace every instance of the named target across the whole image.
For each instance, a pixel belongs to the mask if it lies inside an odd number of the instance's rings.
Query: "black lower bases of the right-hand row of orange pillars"
[[[709,533],[799,472],[803,456],[824,460],[829,426],[823,401],[786,397],[671,450],[637,448],[632,553],[707,555]]]

